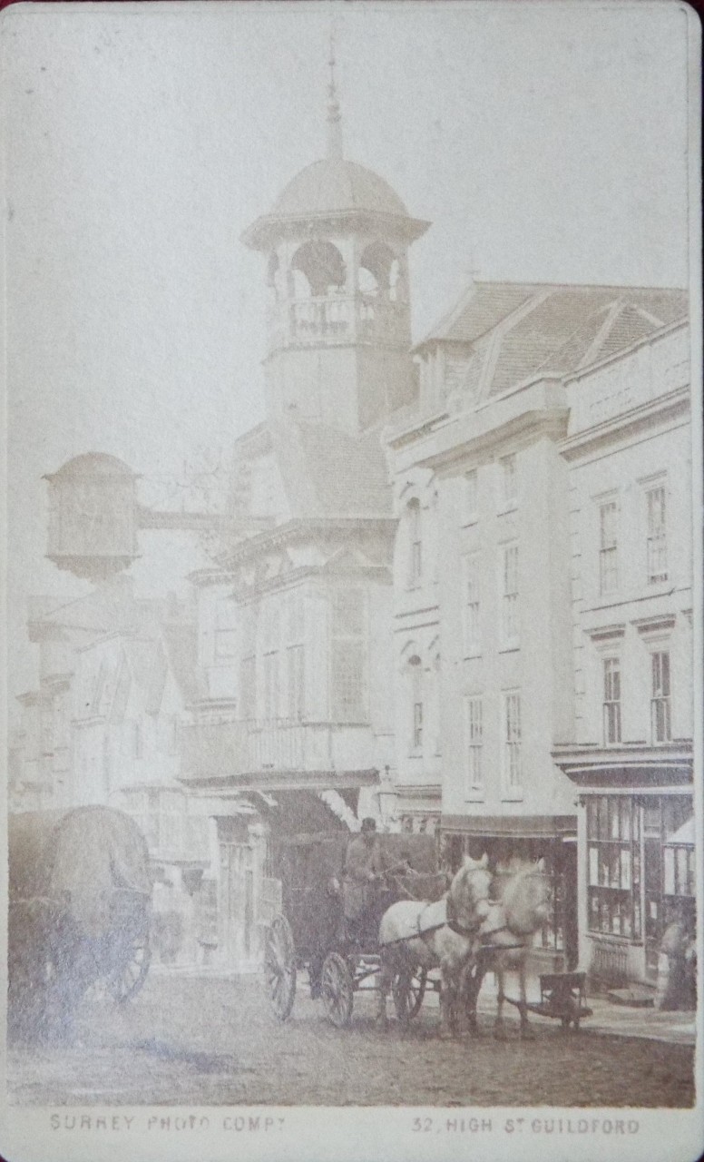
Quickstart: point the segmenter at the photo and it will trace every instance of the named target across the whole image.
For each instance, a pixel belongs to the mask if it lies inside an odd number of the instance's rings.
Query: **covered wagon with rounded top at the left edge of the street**
[[[13,1027],[66,1026],[95,987],[117,1003],[150,963],[151,880],[135,822],[105,806],[8,817],[8,999]]]

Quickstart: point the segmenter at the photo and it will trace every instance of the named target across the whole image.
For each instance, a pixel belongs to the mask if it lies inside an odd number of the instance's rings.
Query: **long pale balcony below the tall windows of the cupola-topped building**
[[[286,786],[292,775],[369,775],[382,765],[367,725],[288,718],[187,723],[179,731],[181,774],[191,784]],[[361,781],[365,781],[364,779]]]

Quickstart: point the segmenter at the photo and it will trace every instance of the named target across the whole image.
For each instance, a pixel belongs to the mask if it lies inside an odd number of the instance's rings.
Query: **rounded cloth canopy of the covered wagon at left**
[[[137,824],[107,806],[9,817],[10,899],[48,896],[86,932],[110,926],[117,891],[151,895],[149,852]]]

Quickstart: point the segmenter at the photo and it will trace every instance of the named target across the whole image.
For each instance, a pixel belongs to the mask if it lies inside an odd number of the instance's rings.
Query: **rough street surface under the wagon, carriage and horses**
[[[410,1028],[373,1024],[373,994],[354,998],[336,1030],[308,996],[272,1016],[257,977],[152,974],[131,1003],[86,999],[70,1045],[14,1045],[13,1103],[33,1105],[556,1105],[684,1106],[694,1100],[694,1049],[533,1018],[534,1041],[481,1035],[443,1041],[434,997]],[[434,1003],[433,1003],[434,1002]],[[390,1011],[390,1006],[389,1006]]]

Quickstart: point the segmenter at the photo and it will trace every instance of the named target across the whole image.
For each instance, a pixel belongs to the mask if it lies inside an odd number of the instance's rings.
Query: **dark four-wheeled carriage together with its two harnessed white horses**
[[[583,974],[541,977],[541,999],[526,998],[526,963],[547,917],[549,885],[543,861],[513,860],[488,868],[486,856],[464,863],[450,884],[437,871],[434,844],[425,835],[379,835],[385,890],[376,892],[362,924],[345,917],[345,852],[350,837],[315,835],[279,847],[282,909],[265,938],[265,978],[279,1020],[292,1012],[297,971],[308,969],[311,995],[322,998],[333,1025],[350,1023],[354,994],[374,990],[376,1017],[386,1023],[390,992],[396,1016],[418,1013],[428,988],[440,994],[441,1031],[460,1016],[476,1031],[476,1002],[487,971],[498,982],[496,1035],[503,1035],[507,971],[517,971],[520,1035],[531,1035],[529,1011],[579,1027],[589,1016]],[[446,889],[446,890],[445,890]]]

